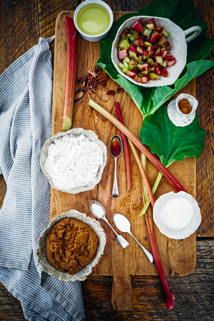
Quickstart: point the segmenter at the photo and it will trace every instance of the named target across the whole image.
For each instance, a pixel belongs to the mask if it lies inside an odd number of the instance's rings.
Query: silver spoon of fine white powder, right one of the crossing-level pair
[[[139,246],[142,248],[145,255],[148,257],[149,261],[151,263],[154,263],[153,255],[149,251],[147,251],[147,249],[142,244],[140,244],[140,242],[138,242],[138,240],[132,234],[130,230],[131,224],[129,220],[126,218],[126,216],[120,213],[115,213],[113,215],[113,221],[114,221],[114,224],[117,226],[118,230],[120,230],[121,232],[129,233],[133,237],[133,239],[136,240],[137,244],[139,244]]]

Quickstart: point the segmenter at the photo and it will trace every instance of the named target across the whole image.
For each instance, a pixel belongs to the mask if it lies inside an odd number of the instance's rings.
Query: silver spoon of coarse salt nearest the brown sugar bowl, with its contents
[[[111,230],[114,231],[114,233],[116,234],[117,236],[117,240],[119,242],[119,244],[121,245],[122,248],[127,248],[129,247],[129,243],[127,242],[126,239],[124,239],[124,237],[120,234],[118,234],[114,229],[113,227],[111,226],[111,224],[109,223],[109,221],[107,220],[107,218],[105,217],[105,208],[102,204],[100,204],[99,202],[97,201],[91,201],[90,204],[89,204],[89,207],[90,207],[90,210],[91,210],[91,213],[98,219],[103,219],[110,227],[111,227]]]

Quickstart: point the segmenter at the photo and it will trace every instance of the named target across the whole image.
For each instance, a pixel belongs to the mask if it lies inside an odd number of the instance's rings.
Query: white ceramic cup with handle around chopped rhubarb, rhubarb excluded
[[[170,54],[176,58],[176,63],[172,66],[167,67],[168,75],[167,77],[161,76],[158,80],[149,80],[146,83],[138,83],[135,82],[132,78],[125,75],[119,68],[119,59],[118,59],[118,41],[120,33],[126,29],[131,28],[131,26],[140,20],[141,18],[145,19],[146,21],[150,21],[151,18],[154,18],[157,27],[164,27],[168,32],[169,36],[167,37],[170,42]],[[185,39],[189,33],[194,32],[192,36]],[[164,85],[172,85],[176,79],[179,77],[179,74],[182,72],[186,65],[186,53],[187,53],[187,45],[186,43],[196,38],[201,32],[201,27],[195,26],[183,31],[180,27],[178,27],[174,22],[167,18],[161,17],[152,17],[152,16],[136,16],[129,18],[126,20],[118,29],[116,37],[113,41],[112,48],[111,48],[111,60],[114,64],[115,68],[126,79],[130,82],[133,82],[136,85],[142,87],[160,87]]]

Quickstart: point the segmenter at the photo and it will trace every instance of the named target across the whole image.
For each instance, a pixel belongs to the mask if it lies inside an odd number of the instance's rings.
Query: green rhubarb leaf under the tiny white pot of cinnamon
[[[198,118],[196,113],[190,125],[177,127],[170,121],[167,107],[162,106],[144,119],[140,140],[160,157],[166,167],[175,160],[183,161],[186,156],[197,159],[202,154],[206,135],[206,131],[199,126]]]

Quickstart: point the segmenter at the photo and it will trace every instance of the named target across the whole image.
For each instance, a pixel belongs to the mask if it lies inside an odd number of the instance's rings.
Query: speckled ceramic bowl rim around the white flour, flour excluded
[[[97,176],[94,178],[94,181],[91,182],[90,184],[88,184],[86,186],[82,186],[82,187],[72,188],[72,189],[59,189],[54,186],[51,176],[45,170],[45,161],[47,158],[48,147],[50,146],[50,144],[54,143],[55,139],[60,139],[61,137],[65,136],[65,135],[78,137],[81,134],[86,136],[91,142],[95,142],[100,146],[100,148],[102,149],[102,152],[103,152],[103,165],[100,166],[100,168],[97,172]],[[48,179],[51,187],[53,187],[54,189],[60,190],[62,192],[65,192],[65,193],[70,193],[70,194],[77,194],[80,192],[85,192],[85,191],[89,191],[91,189],[94,189],[96,187],[96,185],[101,181],[101,178],[103,175],[103,169],[106,165],[106,161],[107,161],[107,147],[106,147],[106,145],[101,140],[98,139],[98,136],[92,130],[85,130],[83,128],[73,128],[73,129],[70,129],[66,132],[60,132],[54,136],[51,136],[48,140],[46,140],[44,146],[41,149],[41,153],[40,153],[40,166],[41,166],[41,169],[42,169],[44,175]]]

